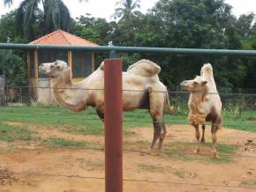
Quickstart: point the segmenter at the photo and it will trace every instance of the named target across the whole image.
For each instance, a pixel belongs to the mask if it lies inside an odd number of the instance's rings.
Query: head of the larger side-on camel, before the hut
[[[39,71],[50,78],[59,77],[67,69],[67,63],[61,60],[56,60],[56,62],[53,63],[41,63],[39,66]]]

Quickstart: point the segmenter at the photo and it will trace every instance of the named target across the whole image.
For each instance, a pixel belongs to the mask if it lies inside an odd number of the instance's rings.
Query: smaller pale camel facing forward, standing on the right
[[[218,157],[216,152],[217,130],[222,127],[222,101],[218,94],[213,67],[210,63],[206,63],[200,70],[200,76],[192,80],[185,80],[181,84],[181,88],[190,92],[188,106],[190,109],[188,119],[195,128],[197,148],[196,152],[200,152],[200,130],[199,124],[202,124],[201,143],[205,142],[205,122],[212,122],[212,142],[213,156]]]

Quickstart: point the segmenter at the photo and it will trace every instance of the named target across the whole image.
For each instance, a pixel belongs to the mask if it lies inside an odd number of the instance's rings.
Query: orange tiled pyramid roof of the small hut
[[[98,46],[96,43],[87,41],[74,34],[64,32],[63,30],[56,30],[41,38],[31,41],[28,44],[34,45],[75,45],[75,46]]]

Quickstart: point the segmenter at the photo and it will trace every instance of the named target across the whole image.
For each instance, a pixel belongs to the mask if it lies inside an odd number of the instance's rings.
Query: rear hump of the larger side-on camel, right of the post
[[[130,65],[127,70],[128,73],[147,77],[157,75],[160,73],[160,71],[160,66],[146,59],[142,59],[139,62]]]

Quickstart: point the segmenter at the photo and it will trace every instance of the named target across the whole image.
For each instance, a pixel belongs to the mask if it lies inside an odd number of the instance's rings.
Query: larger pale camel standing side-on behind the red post
[[[53,94],[58,104],[74,112],[95,107],[104,120],[104,62],[97,70],[79,83],[72,83],[72,71],[64,61],[41,63],[39,70],[49,76]],[[167,133],[163,122],[164,107],[169,107],[167,88],[158,78],[161,68],[148,60],[140,60],[123,72],[123,110],[148,109],[153,119],[154,137],[150,149],[159,140],[158,149]]]

